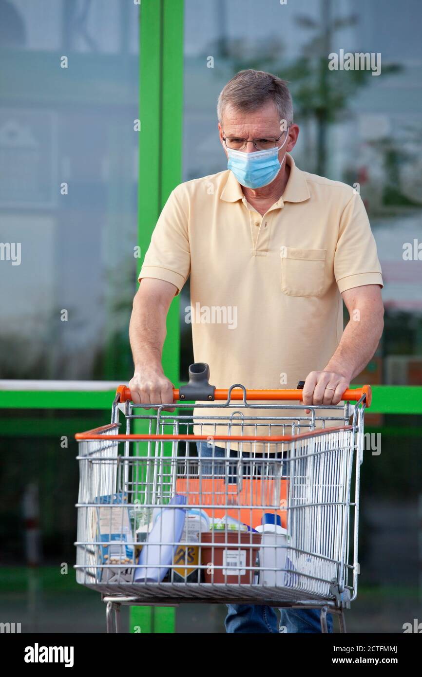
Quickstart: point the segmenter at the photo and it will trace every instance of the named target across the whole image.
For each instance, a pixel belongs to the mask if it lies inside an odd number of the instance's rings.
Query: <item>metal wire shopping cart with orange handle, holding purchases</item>
[[[75,436],[77,582],[101,593],[107,632],[121,605],[184,602],[316,608],[322,632],[327,612],[345,632],[371,388],[303,406],[301,389],[219,390],[206,364],[189,371],[174,413],[120,386],[111,423]],[[135,420],[148,432],[131,433]]]

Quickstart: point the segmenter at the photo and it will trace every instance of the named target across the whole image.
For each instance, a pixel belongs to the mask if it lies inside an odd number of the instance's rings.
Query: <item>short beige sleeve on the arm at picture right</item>
[[[341,293],[364,284],[383,286],[377,245],[358,193],[353,194],[341,214],[334,275]]]

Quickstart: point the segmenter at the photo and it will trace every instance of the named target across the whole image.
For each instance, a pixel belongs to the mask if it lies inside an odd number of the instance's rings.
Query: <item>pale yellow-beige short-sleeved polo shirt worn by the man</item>
[[[177,185],[142,265],[139,280],[167,280],[178,291],[190,275],[192,312],[183,310],[192,321],[194,359],[209,364],[217,388],[297,387],[337,348],[341,292],[383,286],[359,194],[301,171],[290,154],[287,164],[284,194],[263,217],[230,170]]]

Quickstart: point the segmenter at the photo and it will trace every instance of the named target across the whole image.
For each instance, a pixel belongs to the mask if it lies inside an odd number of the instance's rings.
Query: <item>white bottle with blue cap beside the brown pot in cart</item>
[[[289,532],[281,526],[280,516],[272,512],[264,512],[262,525],[256,530],[262,534],[259,548],[259,583],[272,588],[281,588],[284,586],[283,569],[286,569],[287,547],[291,544]]]

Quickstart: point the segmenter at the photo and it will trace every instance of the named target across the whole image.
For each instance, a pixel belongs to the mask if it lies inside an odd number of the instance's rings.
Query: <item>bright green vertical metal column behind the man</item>
[[[140,8],[139,269],[171,190],[182,181],[183,0],[142,0]],[[167,315],[163,369],[179,384],[179,299]],[[134,431],[144,433],[142,422]],[[130,631],[174,632],[175,611],[131,607]]]

